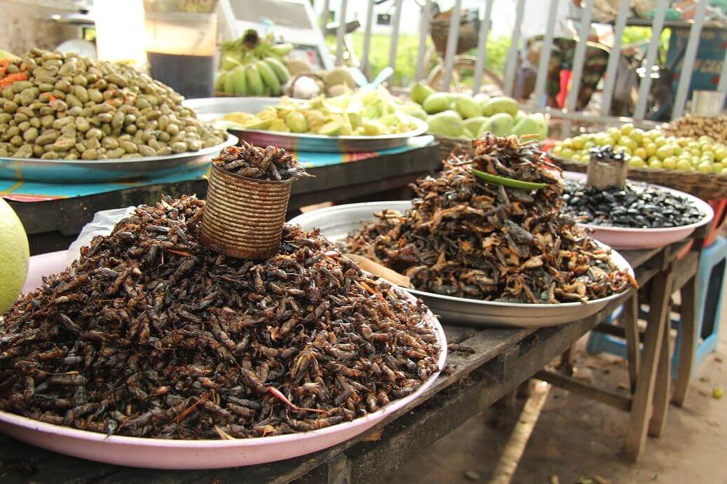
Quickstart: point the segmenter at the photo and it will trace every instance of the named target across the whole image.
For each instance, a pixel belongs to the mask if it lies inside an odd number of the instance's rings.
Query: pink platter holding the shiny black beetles
[[[563,172],[563,177],[569,180],[585,180],[586,175],[584,173],[577,172]],[[634,182],[629,180],[630,183],[640,184],[641,182]],[[651,184],[649,184],[651,185]],[[715,216],[715,212],[709,203],[703,201],[701,198],[696,198],[694,195],[689,193],[680,192],[673,188],[662,187],[660,185],[651,185],[652,187],[660,188],[674,195],[683,197],[694,203],[699,211],[702,211],[704,217],[699,222],[695,222],[690,225],[682,225],[681,227],[663,227],[663,228],[629,228],[629,227],[604,227],[603,225],[593,224],[582,224],[578,225],[590,230],[590,235],[595,240],[605,243],[612,249],[622,250],[634,250],[634,249],[656,249],[657,247],[668,246],[672,243],[682,241],[687,238],[691,233],[702,225],[706,225],[712,222],[712,217]]]

